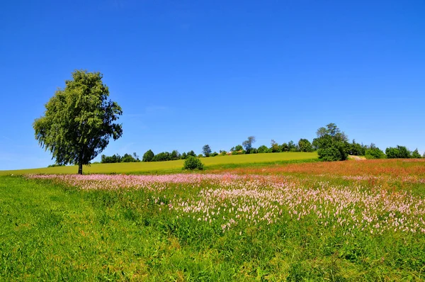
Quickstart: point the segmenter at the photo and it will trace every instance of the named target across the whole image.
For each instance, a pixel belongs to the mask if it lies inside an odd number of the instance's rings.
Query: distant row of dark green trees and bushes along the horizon
[[[301,138],[297,143],[290,140],[283,144],[278,144],[275,140],[271,140],[271,145],[261,145],[258,148],[254,147],[256,138],[249,136],[242,145],[236,145],[227,152],[220,150],[212,152],[210,145],[204,145],[202,147],[203,154],[195,154],[193,150],[189,152],[183,152],[174,150],[170,152],[159,152],[154,154],[152,150],[148,150],[143,154],[142,162],[164,162],[173,161],[176,159],[187,159],[188,157],[215,157],[217,155],[228,155],[228,154],[259,154],[259,153],[278,153],[278,152],[315,152],[319,154],[319,159],[323,161],[332,162],[340,161],[348,158],[348,155],[353,156],[364,156],[366,159],[408,159],[408,158],[421,158],[418,150],[413,152],[409,151],[407,147],[397,145],[397,147],[388,147],[385,152],[376,147],[375,144],[363,145],[358,143],[356,140],[352,142],[348,141],[348,136],[345,132],[342,132],[335,123],[329,123],[326,127],[319,128],[316,132],[317,137],[310,142],[305,138]],[[425,157],[425,154],[424,154]],[[119,154],[114,154],[111,157],[102,155],[101,163],[113,163],[113,162],[141,162],[136,153],[125,154],[120,157]]]

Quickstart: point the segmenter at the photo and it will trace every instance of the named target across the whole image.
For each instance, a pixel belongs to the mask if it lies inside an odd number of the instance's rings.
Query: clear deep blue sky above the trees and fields
[[[101,72],[123,108],[107,155],[311,141],[328,123],[424,152],[424,13],[423,0],[2,1],[0,169],[54,163],[32,124],[74,69]]]

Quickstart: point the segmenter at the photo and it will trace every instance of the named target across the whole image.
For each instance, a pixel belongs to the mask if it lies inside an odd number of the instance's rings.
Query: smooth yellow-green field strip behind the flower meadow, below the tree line
[[[251,164],[285,163],[317,159],[317,153],[284,152],[273,154],[239,154],[234,156],[216,156],[201,158],[208,168],[243,166]],[[183,160],[169,162],[133,162],[120,164],[92,164],[84,166],[84,174],[140,174],[178,172],[183,168]],[[77,174],[77,166],[46,167],[40,169],[21,169],[0,171],[0,175],[11,174]]]

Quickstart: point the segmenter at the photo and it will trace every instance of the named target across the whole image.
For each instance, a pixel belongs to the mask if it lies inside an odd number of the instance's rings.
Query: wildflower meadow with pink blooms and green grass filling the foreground
[[[0,189],[0,280],[425,280],[423,160],[30,174]]]

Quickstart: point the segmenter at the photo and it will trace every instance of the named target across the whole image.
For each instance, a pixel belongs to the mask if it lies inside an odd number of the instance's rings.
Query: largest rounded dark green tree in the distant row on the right
[[[348,158],[348,137],[334,123],[329,123],[327,128],[319,128],[312,145],[317,148],[319,159],[324,161],[344,161]]]

